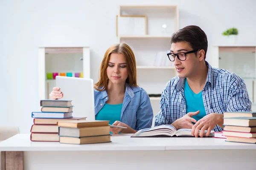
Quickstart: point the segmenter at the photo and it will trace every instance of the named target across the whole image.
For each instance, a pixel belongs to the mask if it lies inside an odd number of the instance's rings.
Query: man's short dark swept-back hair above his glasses
[[[199,26],[186,26],[172,34],[171,43],[189,42],[193,50],[204,50],[206,57],[208,41],[205,32]]]

